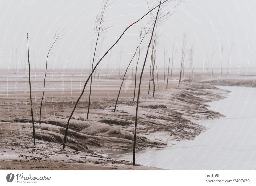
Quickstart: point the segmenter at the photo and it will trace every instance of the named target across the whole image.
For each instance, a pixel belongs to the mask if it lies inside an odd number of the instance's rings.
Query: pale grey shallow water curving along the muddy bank
[[[173,170],[255,170],[256,88],[218,87],[231,92],[223,100],[210,102],[209,109],[226,117],[197,122],[209,129],[194,140],[138,152],[136,163]],[[131,151],[107,154],[132,161]]]

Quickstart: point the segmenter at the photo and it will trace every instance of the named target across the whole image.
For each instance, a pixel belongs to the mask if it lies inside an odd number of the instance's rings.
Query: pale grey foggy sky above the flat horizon
[[[109,1],[113,2],[113,1]],[[152,1],[152,5],[157,1]],[[0,2],[0,68],[22,68],[27,63],[27,33],[29,35],[30,61],[32,68],[44,68],[47,52],[54,41],[57,30],[64,28],[63,38],[52,50],[49,68],[89,68],[91,44],[94,47],[96,34],[95,17],[102,1],[44,1],[23,0]],[[170,10],[175,3],[169,2],[162,11]],[[158,25],[157,65],[164,66],[164,45],[166,62],[172,58],[173,40],[178,48],[174,68],[180,66],[182,33],[187,35],[187,50],[194,46],[195,68],[206,68],[207,53],[212,66],[214,48],[214,68],[220,68],[220,46],[223,44],[223,67],[227,60],[231,43],[234,43],[230,66],[237,68],[256,67],[256,7],[255,0],[192,0],[182,3],[173,15]],[[101,54],[120,36],[124,29],[148,11],[144,0],[116,0],[105,13],[105,27],[112,26],[100,36]],[[156,12],[153,12],[156,14]],[[112,50],[109,67],[126,68],[138,45],[140,28],[151,19],[150,15],[129,28],[117,46]],[[149,38],[143,45],[148,45]],[[121,52],[122,46],[122,52]],[[98,49],[99,49],[98,48]],[[145,48],[145,47],[144,47]],[[144,56],[146,50],[141,52]],[[110,54],[110,53],[109,53]],[[109,54],[101,64],[106,67]],[[121,56],[120,56],[121,54]],[[17,60],[16,60],[17,58]],[[97,56],[98,58],[98,56]],[[120,59],[121,58],[121,59]],[[134,61],[135,62],[135,61]],[[189,66],[188,54],[185,57]],[[17,63],[17,65],[16,65]],[[139,62],[142,64],[142,60]],[[150,63],[147,63],[149,67]]]

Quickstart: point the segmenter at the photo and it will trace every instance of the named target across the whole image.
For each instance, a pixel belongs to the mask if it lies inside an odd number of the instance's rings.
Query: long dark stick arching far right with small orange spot
[[[165,2],[168,2],[168,0],[165,0],[163,3]],[[143,19],[145,16],[147,16],[151,11],[153,11],[154,9],[156,9],[157,7],[159,7],[161,4],[163,3],[160,3],[159,5],[157,5],[156,7],[152,8],[151,10],[149,10],[145,15],[143,15],[140,19],[138,19],[137,21],[135,21],[134,23],[130,24],[127,28],[125,28],[124,32],[119,36],[119,38],[116,40],[116,42],[108,49],[108,51],[100,58],[100,60],[96,63],[96,65],[94,66],[91,74],[89,75],[89,77],[87,78],[87,80],[85,81],[84,83],[84,88],[80,94],[80,96],[78,97],[77,101],[76,101],[76,104],[74,105],[73,107],[73,110],[68,118],[68,122],[67,122],[67,125],[66,125],[66,130],[65,130],[65,134],[64,134],[64,140],[63,140],[63,147],[62,149],[65,149],[65,145],[66,145],[66,141],[67,141],[67,134],[68,134],[68,127],[69,127],[69,121],[71,120],[74,112],[75,112],[75,109],[76,109],[76,106],[79,102],[79,100],[81,99],[81,97],[83,96],[84,94],[84,90],[85,90],[85,87],[88,83],[88,81],[90,80],[93,72],[95,71],[96,67],[98,66],[98,64],[100,63],[100,61],[108,54],[108,52],[116,45],[116,43],[118,43],[118,41],[123,37],[124,33],[130,28],[132,27],[134,24],[136,24],[137,22],[139,22],[141,19]]]

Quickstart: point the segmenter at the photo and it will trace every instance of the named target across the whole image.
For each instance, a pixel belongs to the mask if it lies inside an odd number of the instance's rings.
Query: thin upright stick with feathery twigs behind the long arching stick
[[[102,23],[104,22],[104,12],[107,8],[107,3],[108,0],[104,1],[102,4],[102,10],[100,11],[100,13],[97,15],[96,17],[96,23],[95,23],[95,32],[97,34],[97,39],[96,39],[96,43],[95,43],[95,48],[94,48],[94,54],[93,54],[93,59],[92,59],[92,73],[93,73],[93,65],[94,65],[94,60],[95,60],[95,54],[96,54],[96,50],[97,50],[97,44],[98,44],[98,40],[99,40],[99,36],[100,34],[102,34],[106,29],[105,27],[102,27]],[[96,66],[95,66],[96,67]],[[92,74],[91,73],[91,74]],[[95,73],[96,74],[96,73]],[[95,76],[94,74],[94,76]],[[89,117],[89,112],[90,112],[90,104],[91,104],[91,92],[92,92],[92,76],[91,76],[91,81],[90,81],[90,91],[89,91],[89,100],[88,100],[88,110],[87,110],[87,116],[86,119],[88,119]],[[80,99],[80,98],[79,98]],[[64,142],[65,143],[65,142]],[[64,149],[64,147],[63,147]]]

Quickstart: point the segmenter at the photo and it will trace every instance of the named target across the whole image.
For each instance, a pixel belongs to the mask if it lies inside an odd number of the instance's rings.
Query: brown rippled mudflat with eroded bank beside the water
[[[173,73],[173,79],[175,73]],[[130,77],[129,77],[130,75]],[[132,166],[131,162],[103,157],[100,151],[108,149],[132,151],[135,119],[133,101],[134,76],[127,75],[116,112],[114,103],[121,84],[117,72],[106,77],[104,72],[92,84],[92,104],[86,120],[89,86],[70,121],[67,148],[62,150],[66,122],[79,96],[86,71],[54,71],[47,76],[45,102],[39,120],[40,97],[43,89],[43,71],[32,73],[32,97],[36,128],[36,146],[32,141],[32,124],[29,89],[26,71],[2,71],[0,77],[0,168],[1,170],[152,170],[153,167]],[[148,94],[148,78],[145,73],[139,103],[137,148],[164,147],[168,140],[189,140],[207,130],[196,120],[219,118],[222,115],[207,109],[206,102],[225,97],[226,90],[214,85],[236,83],[252,86],[251,80],[236,74],[195,73],[189,83],[188,74],[178,87],[177,81],[166,82],[159,73],[159,89],[152,97],[151,82]],[[224,78],[225,81],[219,81]],[[138,76],[139,79],[139,76]],[[236,85],[234,84],[234,85]],[[138,85],[138,81],[137,81]],[[137,95],[137,91],[136,91]],[[160,135],[159,135],[160,134]]]

